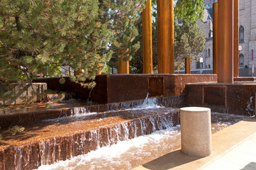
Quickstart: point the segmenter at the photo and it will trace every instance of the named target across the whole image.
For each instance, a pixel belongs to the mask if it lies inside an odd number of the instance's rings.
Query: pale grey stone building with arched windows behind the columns
[[[211,4],[212,1],[205,0]],[[205,50],[201,52],[201,62],[191,62],[191,69],[203,69],[204,73],[212,73],[213,67],[213,9],[206,8],[204,22],[198,22],[199,28],[206,35]],[[256,1],[239,1],[239,69],[240,76],[252,76],[252,68],[256,67]],[[256,71],[256,69],[255,69]],[[255,72],[256,75],[256,72]]]

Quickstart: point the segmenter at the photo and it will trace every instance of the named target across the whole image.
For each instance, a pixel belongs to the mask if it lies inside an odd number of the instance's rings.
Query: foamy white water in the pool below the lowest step
[[[211,114],[212,131],[216,132],[247,117],[240,115]],[[136,166],[161,157],[180,147],[180,126],[160,130],[132,140],[118,142],[110,147],[101,147],[88,154],[72,159],[43,165],[38,169],[133,169]]]

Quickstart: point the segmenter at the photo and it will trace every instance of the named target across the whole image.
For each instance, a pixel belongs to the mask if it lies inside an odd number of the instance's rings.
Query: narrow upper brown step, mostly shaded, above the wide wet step
[[[184,96],[149,98],[148,101],[155,102],[159,106],[172,108],[181,108],[184,106]],[[0,109],[0,127],[3,130],[15,125],[25,126],[31,123],[38,123],[44,119],[61,118],[84,112],[117,111],[123,108],[134,108],[143,103],[145,103],[145,100],[108,104],[91,104],[87,103],[87,101],[74,100],[49,103],[50,108],[45,108],[45,103],[35,103],[33,106],[25,109]]]

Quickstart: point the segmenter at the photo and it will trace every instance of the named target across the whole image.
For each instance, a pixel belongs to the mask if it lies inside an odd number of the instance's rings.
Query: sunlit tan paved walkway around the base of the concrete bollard
[[[191,157],[177,149],[135,170],[256,170],[256,118],[243,120],[214,133],[212,147],[213,154],[209,157]]]

